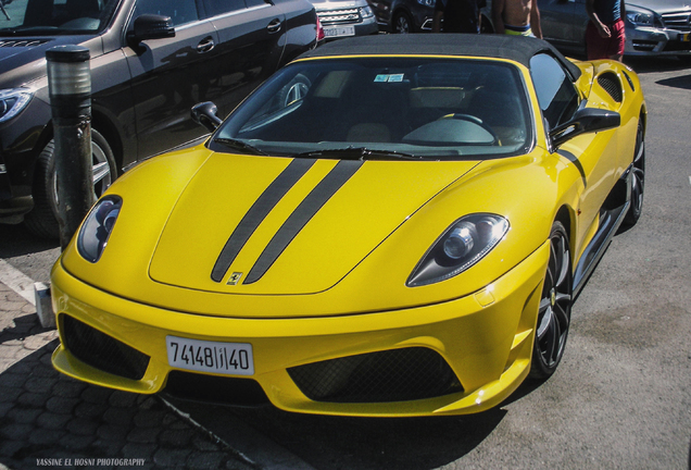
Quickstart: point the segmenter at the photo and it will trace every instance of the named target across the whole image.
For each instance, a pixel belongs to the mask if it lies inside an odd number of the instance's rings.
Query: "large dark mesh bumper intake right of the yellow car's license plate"
[[[315,401],[407,401],[463,391],[444,359],[423,347],[314,362],[290,368],[288,374]]]

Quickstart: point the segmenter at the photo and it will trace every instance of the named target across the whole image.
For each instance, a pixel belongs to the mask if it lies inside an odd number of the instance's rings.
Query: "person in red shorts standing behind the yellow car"
[[[626,44],[624,0],[587,0],[586,11],[590,17],[586,29],[588,60],[621,61]]]

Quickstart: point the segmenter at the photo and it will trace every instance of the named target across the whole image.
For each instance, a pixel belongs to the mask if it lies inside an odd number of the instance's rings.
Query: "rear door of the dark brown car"
[[[264,0],[204,0],[204,8],[218,33],[223,95],[215,103],[225,118],[277,70],[286,16],[276,3]]]

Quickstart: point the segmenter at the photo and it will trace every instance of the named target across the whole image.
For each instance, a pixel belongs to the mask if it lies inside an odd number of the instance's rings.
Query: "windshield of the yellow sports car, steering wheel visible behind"
[[[523,81],[507,63],[324,59],[274,75],[211,145],[307,158],[498,158],[529,149],[530,123]]]

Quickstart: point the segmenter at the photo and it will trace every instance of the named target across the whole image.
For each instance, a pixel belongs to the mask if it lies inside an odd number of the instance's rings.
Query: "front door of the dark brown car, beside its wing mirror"
[[[202,12],[196,0],[137,0],[128,30],[142,14],[169,16],[175,27],[175,37],[127,49],[140,158],[202,135],[190,109],[221,94],[218,35]]]

